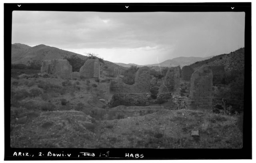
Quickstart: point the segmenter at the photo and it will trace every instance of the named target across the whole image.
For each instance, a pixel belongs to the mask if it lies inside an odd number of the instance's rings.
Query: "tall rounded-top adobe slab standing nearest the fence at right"
[[[212,70],[209,67],[196,70],[190,80],[188,105],[191,109],[211,109]]]

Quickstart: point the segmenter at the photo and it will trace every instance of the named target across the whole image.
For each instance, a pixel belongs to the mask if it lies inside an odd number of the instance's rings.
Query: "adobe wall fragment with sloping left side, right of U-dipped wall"
[[[168,69],[163,83],[158,89],[157,101],[167,101],[174,93],[180,93],[180,66]]]

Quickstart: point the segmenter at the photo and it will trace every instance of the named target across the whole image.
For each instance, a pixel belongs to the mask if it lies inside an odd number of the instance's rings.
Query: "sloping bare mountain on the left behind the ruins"
[[[66,50],[46,45],[28,46],[24,44],[12,44],[12,64],[26,64],[32,61],[41,62],[42,60],[63,59],[68,56],[76,55],[82,59],[88,57]]]

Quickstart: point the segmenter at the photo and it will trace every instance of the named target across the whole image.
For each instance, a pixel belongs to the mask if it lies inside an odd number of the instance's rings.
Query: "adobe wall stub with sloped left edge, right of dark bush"
[[[100,78],[100,60],[98,58],[86,60],[79,73],[86,78]]]

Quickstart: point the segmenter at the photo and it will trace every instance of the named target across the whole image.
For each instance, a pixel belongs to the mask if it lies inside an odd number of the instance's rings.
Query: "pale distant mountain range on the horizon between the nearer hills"
[[[180,66],[181,68],[183,66],[186,65],[190,65],[193,64],[195,62],[198,61],[202,61],[202,60],[207,60],[209,58],[212,58],[213,56],[209,56],[209,57],[178,57],[178,58],[173,58],[172,60],[166,60],[164,62],[161,62],[159,64],[148,64],[148,65],[137,65],[137,64],[123,64],[123,63],[115,63],[117,65],[123,66],[123,67],[130,67],[130,66],[138,66],[138,67],[142,67],[142,66],[149,66],[149,67],[155,67],[155,66],[160,66],[160,67],[176,67],[176,66]]]

